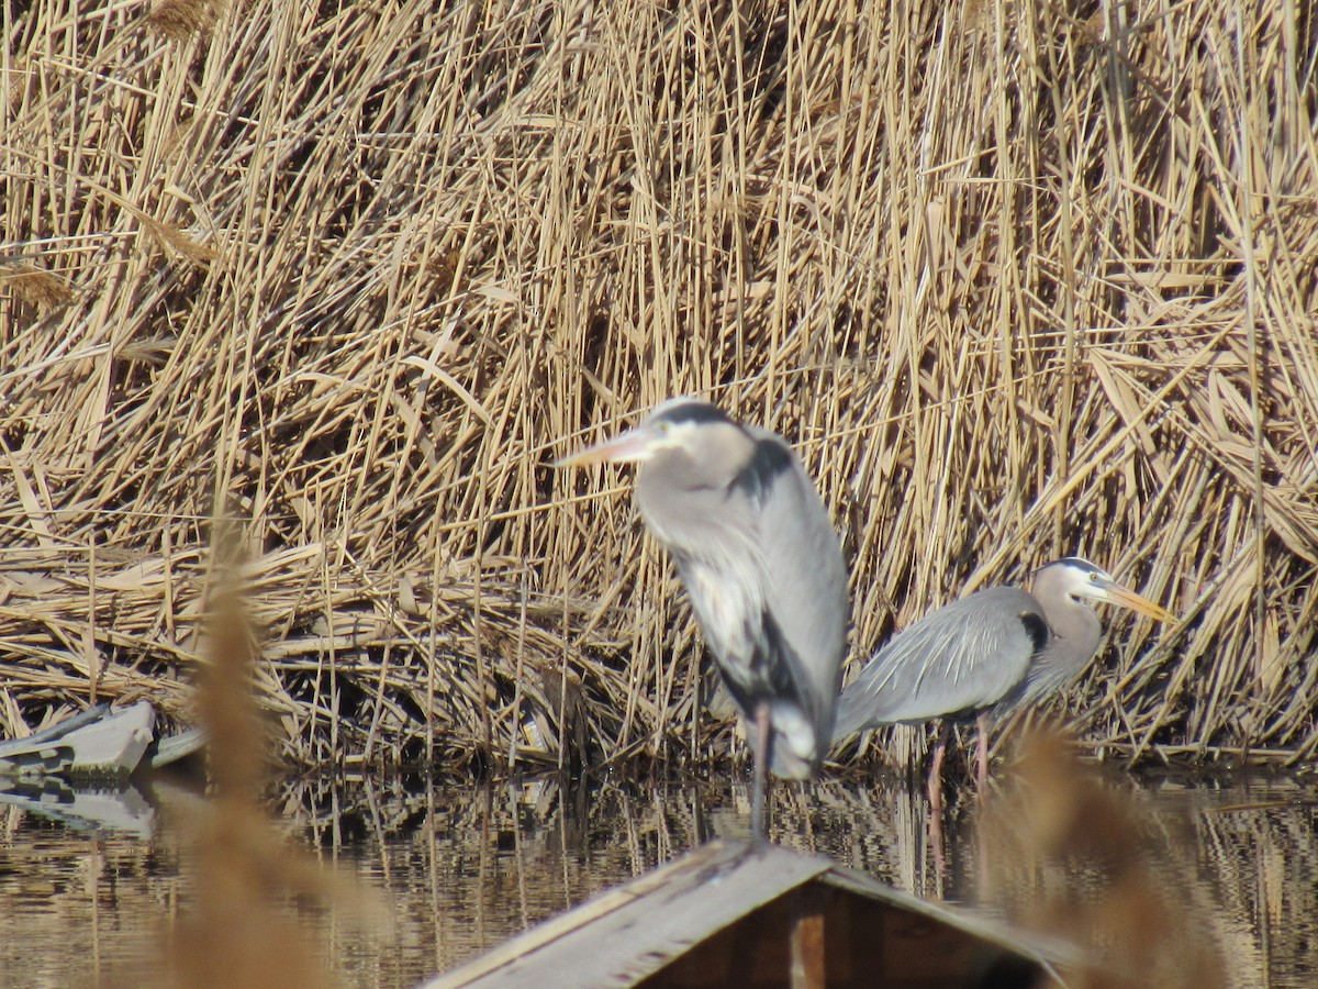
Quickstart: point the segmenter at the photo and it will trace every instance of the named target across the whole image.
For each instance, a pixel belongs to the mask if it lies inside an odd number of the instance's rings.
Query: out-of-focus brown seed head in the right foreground
[[[981,880],[1019,923],[1087,949],[1090,964],[1062,973],[1072,989],[1224,986],[1214,931],[1188,905],[1193,884],[1165,868],[1173,856],[1061,736],[1036,734],[986,811]]]

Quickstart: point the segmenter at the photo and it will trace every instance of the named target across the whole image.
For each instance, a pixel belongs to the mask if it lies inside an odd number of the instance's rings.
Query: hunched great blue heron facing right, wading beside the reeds
[[[1085,600],[1119,604],[1160,621],[1176,616],[1079,556],[1041,567],[1035,593],[990,587],[938,608],[899,633],[838,699],[834,741],[887,724],[975,713],[978,781],[987,778],[990,720],[1061,690],[1098,650],[1103,626]],[[942,806],[946,721],[929,767],[929,803]]]

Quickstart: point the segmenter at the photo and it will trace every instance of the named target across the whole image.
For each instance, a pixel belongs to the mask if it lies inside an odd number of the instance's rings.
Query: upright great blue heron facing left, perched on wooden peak
[[[641,516],[677,562],[751,733],[759,839],[766,767],[805,779],[832,738],[850,608],[828,512],[782,436],[693,398],[559,464],[596,462],[641,463]]]

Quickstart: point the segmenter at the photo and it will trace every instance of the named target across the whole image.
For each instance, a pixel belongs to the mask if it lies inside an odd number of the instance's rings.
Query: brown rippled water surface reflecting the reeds
[[[1318,984],[1318,810],[1307,783],[1119,775],[1116,787],[1144,822],[1157,881],[1215,939],[1230,985]],[[173,791],[145,798],[163,811],[144,803],[117,820],[137,833],[84,833],[0,804],[0,984],[158,981],[162,944],[195,895],[177,831],[198,811],[181,814],[186,798]],[[750,816],[741,781],[290,781],[272,808],[289,841],[384,891],[391,922],[365,928],[306,898],[281,901],[343,984],[368,986],[414,985],[699,843],[745,835]],[[953,795],[940,851],[923,795],[903,785],[779,785],[774,839],[921,895],[1010,902],[1014,882],[1039,877],[985,868],[1002,852],[977,839],[978,814],[977,800]]]

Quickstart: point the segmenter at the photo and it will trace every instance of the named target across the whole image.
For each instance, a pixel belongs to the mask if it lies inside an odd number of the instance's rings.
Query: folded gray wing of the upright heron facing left
[[[775,699],[771,767],[800,777],[822,758],[832,738],[851,611],[846,564],[828,510],[796,454],[771,433],[750,427],[747,433],[757,440],[757,454],[738,487],[757,509],[764,634],[778,640],[770,653],[787,667],[799,712],[793,717],[792,705]]]

